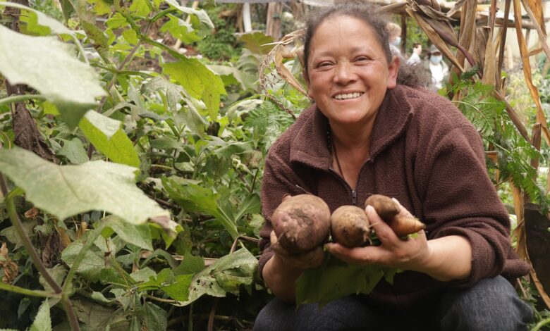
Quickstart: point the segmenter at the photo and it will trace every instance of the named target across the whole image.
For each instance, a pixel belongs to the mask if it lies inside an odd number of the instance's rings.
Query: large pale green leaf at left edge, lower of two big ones
[[[107,211],[135,224],[169,218],[168,211],[135,186],[136,169],[128,165],[56,165],[14,147],[0,149],[0,171],[25,189],[28,201],[61,220],[90,210]]]

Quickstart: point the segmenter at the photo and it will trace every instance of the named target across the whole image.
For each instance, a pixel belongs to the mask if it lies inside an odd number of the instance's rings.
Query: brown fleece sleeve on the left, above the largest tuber
[[[273,215],[277,206],[281,204],[284,196],[312,192],[309,185],[302,180],[305,176],[298,175],[295,167],[288,161],[288,140],[281,140],[271,147],[267,155],[262,180],[262,214],[265,223],[259,232],[261,237],[259,249],[262,251],[258,263],[260,277],[262,277],[265,263],[273,256],[273,251],[269,247],[269,234],[273,230],[271,215]]]

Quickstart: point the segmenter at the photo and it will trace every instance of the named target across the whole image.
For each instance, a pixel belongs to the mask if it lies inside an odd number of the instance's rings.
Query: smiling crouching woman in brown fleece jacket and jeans
[[[304,76],[315,104],[267,156],[259,271],[276,299],[255,330],[525,330],[532,312],[506,279],[529,266],[511,249],[479,135],[451,102],[418,87],[392,56],[386,26],[367,4],[323,8],[307,24]],[[321,263],[323,246],[289,254],[270,220],[284,196],[304,191],[331,212],[383,194],[422,220],[426,232],[403,240],[367,207],[379,246],[324,245],[348,263],[403,270],[393,285],[322,309],[293,305],[295,281]]]

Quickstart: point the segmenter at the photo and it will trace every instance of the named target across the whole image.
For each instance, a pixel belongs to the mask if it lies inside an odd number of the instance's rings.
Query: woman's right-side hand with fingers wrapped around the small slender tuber
[[[394,201],[398,202],[395,199]],[[400,214],[412,217],[401,204],[399,204],[399,208]],[[348,263],[378,264],[402,270],[422,270],[422,266],[429,261],[431,254],[424,230],[403,240],[397,237],[372,206],[367,206],[365,213],[367,213],[367,218],[380,239],[380,246],[348,248],[341,244],[331,243],[325,245],[326,249]]]

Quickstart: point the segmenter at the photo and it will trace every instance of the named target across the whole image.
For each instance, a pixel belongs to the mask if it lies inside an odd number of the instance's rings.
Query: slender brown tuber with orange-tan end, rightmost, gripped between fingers
[[[372,206],[398,237],[406,237],[426,227],[417,218],[398,215],[399,205],[389,196],[374,194],[365,201],[365,208]]]

